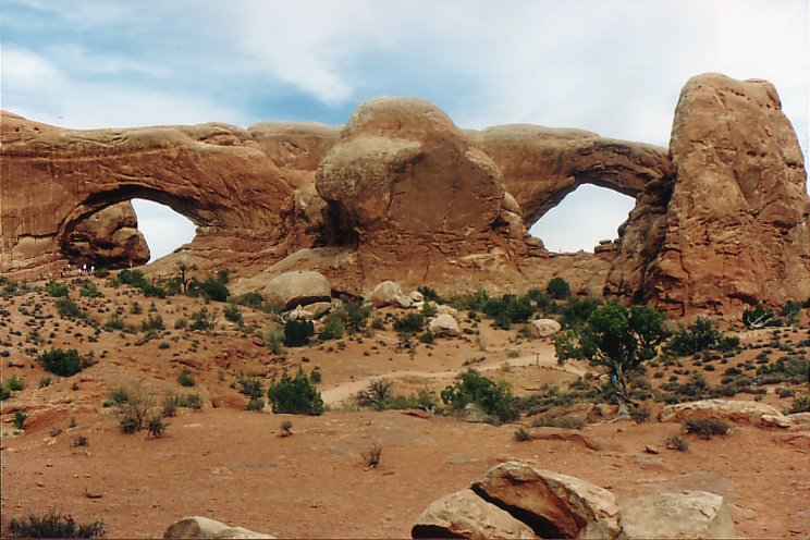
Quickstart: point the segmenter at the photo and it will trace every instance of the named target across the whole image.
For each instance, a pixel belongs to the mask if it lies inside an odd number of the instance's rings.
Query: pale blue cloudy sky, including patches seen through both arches
[[[464,128],[666,147],[683,85],[720,72],[774,83],[808,156],[809,32],[807,0],[3,0],[0,107],[75,128],[340,125],[415,96]],[[591,250],[631,207],[582,186],[531,232]],[[154,257],[193,236],[165,207],[136,211]]]

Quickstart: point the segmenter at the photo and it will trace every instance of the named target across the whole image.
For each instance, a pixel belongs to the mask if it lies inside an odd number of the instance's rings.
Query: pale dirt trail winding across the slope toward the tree
[[[572,364],[567,364],[565,366],[560,366],[556,361],[556,358],[552,355],[549,355],[548,352],[543,352],[540,354],[532,354],[528,356],[519,356],[517,358],[511,358],[507,360],[510,366],[513,367],[520,367],[520,366],[541,366],[545,369],[554,369],[559,371],[564,371],[567,373],[575,375],[577,377],[581,377],[585,375],[585,370],[581,369],[578,366],[574,366]],[[495,361],[489,361],[489,363],[482,363],[477,366],[470,366],[479,371],[495,371],[501,368],[503,363],[495,363]],[[429,381],[452,381],[455,379],[455,377],[461,372],[466,370],[467,367],[462,367],[459,369],[449,369],[443,371],[396,371],[393,373],[383,373],[379,376],[372,376],[372,377],[366,377],[365,379],[355,380],[355,381],[347,381],[336,384],[335,386],[324,390],[321,392],[321,396],[323,397],[323,403],[327,405],[336,405],[340,403],[343,403],[347,400],[351,400],[357,392],[368,388],[368,385],[371,383],[371,381],[376,379],[383,379],[388,381],[402,381],[402,380],[408,380],[408,379],[417,379],[417,380],[424,380],[425,382]]]

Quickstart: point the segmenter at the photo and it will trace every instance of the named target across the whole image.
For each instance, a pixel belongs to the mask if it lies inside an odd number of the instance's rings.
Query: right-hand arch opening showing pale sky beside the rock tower
[[[615,240],[636,199],[614,189],[582,184],[542,214],[529,233],[555,253],[593,253],[600,241]]]

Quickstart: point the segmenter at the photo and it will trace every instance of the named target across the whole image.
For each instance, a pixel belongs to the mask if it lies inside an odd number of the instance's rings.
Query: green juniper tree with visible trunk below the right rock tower
[[[619,414],[626,416],[633,404],[627,381],[655,357],[665,338],[664,318],[655,308],[639,305],[627,309],[609,303],[596,309],[582,328],[557,338],[554,348],[560,364],[587,358],[602,367],[611,378]]]

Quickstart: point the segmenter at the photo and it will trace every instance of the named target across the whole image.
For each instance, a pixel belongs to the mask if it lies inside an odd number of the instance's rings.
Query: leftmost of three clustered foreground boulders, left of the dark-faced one
[[[536,538],[524,523],[471,490],[462,490],[430,503],[410,529],[413,538]]]

